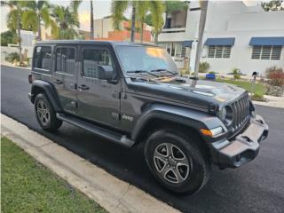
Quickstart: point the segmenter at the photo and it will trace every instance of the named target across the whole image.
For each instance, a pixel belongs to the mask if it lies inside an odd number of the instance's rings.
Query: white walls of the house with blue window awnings
[[[198,8],[193,2],[191,8]],[[183,42],[197,38],[201,11],[188,11],[185,33],[161,34],[159,42]],[[207,47],[203,46],[201,61],[208,61],[210,70],[229,73],[233,67],[250,75],[253,71],[264,74],[267,67],[284,68],[284,48],[280,60],[251,59],[252,47],[248,45],[255,36],[284,36],[284,12],[264,12],[261,6],[247,7],[241,1],[209,2],[203,42],[207,38],[234,37],[230,59],[206,58]]]

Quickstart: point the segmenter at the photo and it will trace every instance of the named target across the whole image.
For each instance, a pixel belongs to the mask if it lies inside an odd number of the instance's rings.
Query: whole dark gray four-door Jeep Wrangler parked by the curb
[[[200,190],[212,163],[250,162],[268,135],[247,91],[177,75],[154,45],[39,42],[29,82],[43,130],[68,122],[122,146],[141,144],[149,170],[174,193]]]

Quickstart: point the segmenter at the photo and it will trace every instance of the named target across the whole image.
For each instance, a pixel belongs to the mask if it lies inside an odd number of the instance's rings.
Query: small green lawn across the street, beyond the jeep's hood
[[[241,81],[241,80],[231,80],[231,79],[221,79],[221,78],[217,78],[217,82],[222,82],[222,83],[231,83],[234,85],[237,85],[249,92],[251,92],[252,86],[251,83],[246,82],[246,81]],[[256,95],[259,96],[263,96],[266,92],[266,88],[264,87],[263,84],[260,83],[256,83],[256,87],[255,87],[255,93]]]

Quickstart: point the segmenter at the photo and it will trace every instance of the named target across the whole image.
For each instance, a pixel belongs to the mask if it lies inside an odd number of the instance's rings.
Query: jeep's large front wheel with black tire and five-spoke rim
[[[209,156],[195,143],[198,139],[201,138],[193,135],[186,136],[179,130],[157,130],[146,141],[145,157],[149,169],[154,177],[173,193],[196,193],[209,180],[211,166]],[[172,161],[173,157],[170,159],[168,153],[170,144],[173,147],[170,149],[172,156],[176,155],[174,161]],[[183,165],[183,162],[186,162],[183,155],[187,158],[188,167]],[[165,162],[160,159],[160,156]],[[166,159],[163,159],[163,156],[167,156]],[[170,170],[168,173],[167,167]],[[188,168],[188,173],[186,168]]]

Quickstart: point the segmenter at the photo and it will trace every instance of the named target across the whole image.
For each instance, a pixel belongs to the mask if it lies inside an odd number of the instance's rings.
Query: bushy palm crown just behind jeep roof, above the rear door
[[[78,36],[78,13],[71,6],[54,6],[51,12],[51,34],[56,39],[74,39]]]

